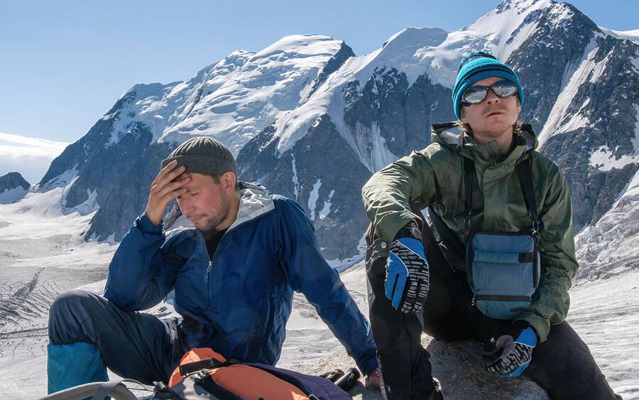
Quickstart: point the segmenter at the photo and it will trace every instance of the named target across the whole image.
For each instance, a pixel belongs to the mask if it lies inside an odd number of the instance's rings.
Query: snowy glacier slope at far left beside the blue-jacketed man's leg
[[[106,278],[115,246],[84,242],[91,215],[65,214],[62,188],[0,205],[0,393],[46,394],[47,320],[62,291]]]

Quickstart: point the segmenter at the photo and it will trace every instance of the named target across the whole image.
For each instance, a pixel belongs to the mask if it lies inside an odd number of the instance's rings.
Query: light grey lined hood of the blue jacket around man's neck
[[[238,183],[238,186],[241,193],[239,210],[235,222],[231,224],[229,230],[244,222],[254,220],[267,212],[271,212],[275,208],[273,195],[271,195],[266,188],[241,181]],[[173,203],[173,207],[171,207],[164,218],[164,227],[166,230],[180,228],[195,229],[193,222],[185,215],[182,215],[182,210],[180,210],[178,202]]]

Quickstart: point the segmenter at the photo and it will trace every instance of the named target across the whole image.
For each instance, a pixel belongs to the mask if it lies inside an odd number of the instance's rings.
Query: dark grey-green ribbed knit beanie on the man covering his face
[[[220,176],[233,171],[237,175],[237,164],[228,147],[208,136],[196,136],[180,144],[162,161],[162,167],[173,160],[185,166],[187,173],[207,173]]]

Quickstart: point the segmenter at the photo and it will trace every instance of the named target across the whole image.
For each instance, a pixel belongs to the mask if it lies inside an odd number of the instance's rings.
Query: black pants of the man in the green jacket
[[[453,271],[439,247],[425,242],[430,291],[423,328],[415,315],[395,310],[386,298],[386,259],[371,260],[370,242],[366,254],[371,328],[387,400],[425,399],[433,389],[430,355],[420,343],[422,329],[438,340],[488,342],[509,324],[488,318],[473,306],[466,274]],[[547,340],[532,352],[524,374],[552,399],[616,399],[588,347],[567,322],[552,326]]]

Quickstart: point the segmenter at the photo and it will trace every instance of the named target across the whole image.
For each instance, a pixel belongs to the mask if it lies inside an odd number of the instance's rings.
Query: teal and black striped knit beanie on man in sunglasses
[[[490,53],[474,51],[461,59],[457,80],[453,87],[452,100],[457,119],[461,119],[461,95],[476,82],[488,77],[501,77],[517,85],[519,104],[523,106],[524,94],[517,74]]]

